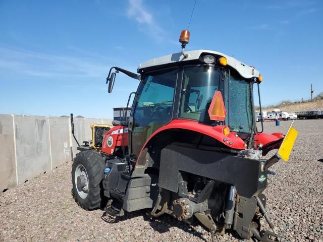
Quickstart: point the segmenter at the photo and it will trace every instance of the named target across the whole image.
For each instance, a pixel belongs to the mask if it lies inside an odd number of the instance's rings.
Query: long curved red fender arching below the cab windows
[[[195,132],[210,136],[210,137],[220,141],[224,145],[228,146],[228,148],[239,149],[239,150],[245,149],[246,147],[245,147],[244,141],[242,139],[240,139],[239,137],[235,136],[236,132],[230,132],[230,134],[227,136],[225,136],[222,133],[222,130],[225,127],[226,126],[212,127],[210,125],[204,125],[204,124],[197,123],[196,121],[185,120],[185,119],[174,119],[170,123],[168,123],[166,126],[161,127],[158,130],[156,130],[147,139],[147,141],[145,142],[145,144],[141,148],[141,151],[138,155],[136,166],[137,166],[138,160],[140,159],[142,151],[146,147],[147,143],[158,133],[163,132],[165,130],[170,130],[170,129],[184,129],[184,130],[195,131]]]

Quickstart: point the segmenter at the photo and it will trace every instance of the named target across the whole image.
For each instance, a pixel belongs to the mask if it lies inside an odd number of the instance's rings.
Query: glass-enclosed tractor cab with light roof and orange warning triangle
[[[133,161],[156,131],[174,122],[188,124],[188,132],[222,127],[227,132],[219,134],[223,147],[253,147],[257,131],[252,95],[262,76],[254,67],[221,52],[183,53],[151,59],[140,65],[138,74],[126,73],[140,80],[127,123],[126,149]],[[107,82],[114,82],[112,74],[110,70]],[[216,93],[221,97],[216,99]],[[230,133],[235,139],[227,137]]]

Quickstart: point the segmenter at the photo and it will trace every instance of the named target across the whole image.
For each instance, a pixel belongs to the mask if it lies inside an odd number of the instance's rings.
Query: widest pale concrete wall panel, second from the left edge
[[[18,185],[51,170],[48,117],[15,115]]]

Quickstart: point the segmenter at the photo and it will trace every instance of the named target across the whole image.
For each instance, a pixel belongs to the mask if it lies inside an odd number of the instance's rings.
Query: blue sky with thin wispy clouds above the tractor
[[[138,82],[111,66],[179,52],[194,0],[0,0],[0,113],[113,117]],[[197,0],[187,50],[224,52],[263,75],[262,104],[323,91],[322,1]]]

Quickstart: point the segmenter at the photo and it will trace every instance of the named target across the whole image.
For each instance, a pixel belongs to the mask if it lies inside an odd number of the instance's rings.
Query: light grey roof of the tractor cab
[[[205,50],[205,49],[198,49],[198,50],[191,50],[186,51],[186,54],[188,54],[187,58],[184,58],[181,52],[169,54],[165,56],[161,56],[158,58],[150,59],[149,61],[146,61],[142,64],[140,64],[139,69],[147,68],[147,67],[153,67],[153,66],[159,66],[159,65],[165,65],[170,63],[176,63],[176,62],[186,62],[186,61],[192,61],[194,59],[198,59],[202,53],[209,53],[209,54],[216,54],[220,56],[224,56],[227,58],[228,66],[234,68],[237,70],[237,72],[244,78],[252,78],[252,77],[259,77],[259,71],[254,69],[253,67],[250,67],[237,59],[228,56],[224,53],[213,51],[213,50]]]

